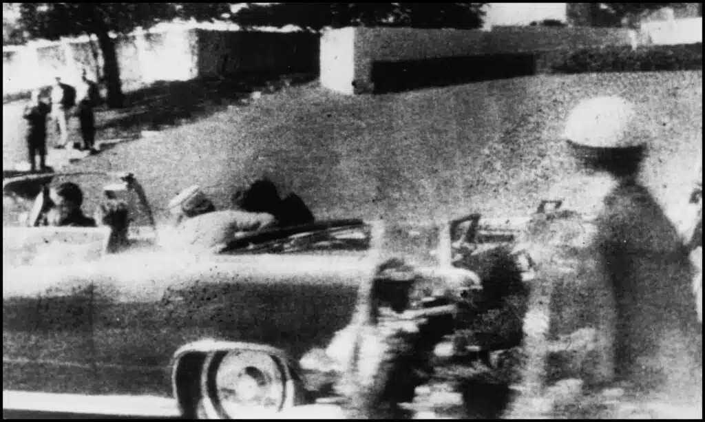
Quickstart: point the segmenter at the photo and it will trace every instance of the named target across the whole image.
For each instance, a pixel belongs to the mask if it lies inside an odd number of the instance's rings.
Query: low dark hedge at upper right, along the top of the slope
[[[606,46],[580,49],[555,57],[552,73],[701,70],[702,43],[668,46]]]

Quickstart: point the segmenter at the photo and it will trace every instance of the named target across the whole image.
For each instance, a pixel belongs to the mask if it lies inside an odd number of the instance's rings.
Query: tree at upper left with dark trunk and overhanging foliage
[[[20,25],[35,38],[94,35],[103,54],[107,104],[120,108],[124,95],[113,35],[175,18],[212,20],[229,11],[230,4],[224,3],[23,3]]]

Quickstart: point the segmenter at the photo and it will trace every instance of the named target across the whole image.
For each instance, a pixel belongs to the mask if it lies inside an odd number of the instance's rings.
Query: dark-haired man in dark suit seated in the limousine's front
[[[87,217],[81,210],[83,192],[72,182],[63,182],[51,189],[49,194],[52,206],[39,225],[58,227],[97,227],[93,218]]]

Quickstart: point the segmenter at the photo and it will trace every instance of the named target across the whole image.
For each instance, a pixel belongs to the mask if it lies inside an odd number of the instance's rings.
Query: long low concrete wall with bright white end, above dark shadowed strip
[[[375,62],[430,58],[520,54],[632,45],[634,31],[594,27],[496,27],[485,30],[417,30],[348,27],[328,30],[321,38],[321,85],[353,94],[372,87]]]

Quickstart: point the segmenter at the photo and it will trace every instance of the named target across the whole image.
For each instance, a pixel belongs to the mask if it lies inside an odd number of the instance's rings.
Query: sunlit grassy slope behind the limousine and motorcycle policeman
[[[520,77],[404,94],[348,97],[313,85],[263,97],[78,164],[131,169],[157,212],[199,183],[226,206],[267,174],[321,218],[517,215],[569,171],[560,129],[585,97],[644,106],[655,145],[644,172],[663,201],[685,198],[702,156],[702,73]]]

